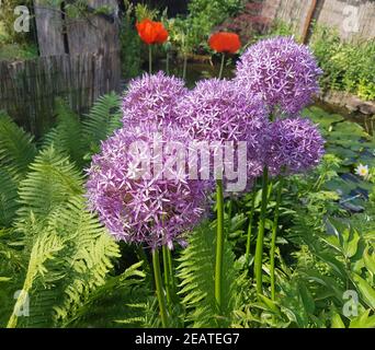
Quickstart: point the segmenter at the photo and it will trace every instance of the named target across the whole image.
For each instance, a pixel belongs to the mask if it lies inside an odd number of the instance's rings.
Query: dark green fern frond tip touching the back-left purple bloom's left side
[[[114,92],[100,96],[82,121],[84,142],[92,152],[98,152],[100,141],[122,126],[120,105],[121,97]]]

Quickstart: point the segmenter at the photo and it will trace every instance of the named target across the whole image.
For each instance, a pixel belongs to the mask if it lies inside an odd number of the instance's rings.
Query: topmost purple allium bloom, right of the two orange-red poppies
[[[319,92],[321,73],[307,46],[298,45],[293,37],[275,37],[243,52],[235,80],[261,94],[271,113],[294,115]]]

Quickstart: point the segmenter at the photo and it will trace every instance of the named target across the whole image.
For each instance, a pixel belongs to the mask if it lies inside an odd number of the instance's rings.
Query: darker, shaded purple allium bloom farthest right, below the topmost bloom
[[[325,153],[325,140],[306,118],[285,118],[272,122],[266,165],[271,174],[297,174],[318,165]]]

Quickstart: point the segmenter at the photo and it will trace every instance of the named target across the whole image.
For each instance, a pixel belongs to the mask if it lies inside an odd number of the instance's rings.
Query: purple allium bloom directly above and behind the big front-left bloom
[[[174,106],[186,93],[183,80],[161,71],[133,79],[123,100],[124,126],[170,125],[175,120]]]

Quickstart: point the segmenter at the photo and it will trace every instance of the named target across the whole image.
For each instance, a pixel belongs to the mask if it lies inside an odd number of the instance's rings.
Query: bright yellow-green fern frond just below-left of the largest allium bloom
[[[96,288],[103,285],[113,265],[112,259],[120,256],[118,246],[102,228],[98,218],[86,210],[81,196],[71,201],[56,214],[57,230],[69,235],[69,255],[66,260],[64,303],[54,308],[56,318],[65,322],[76,314],[86,299]]]

